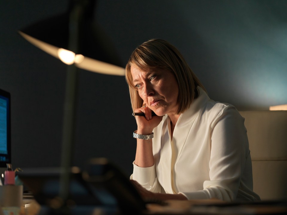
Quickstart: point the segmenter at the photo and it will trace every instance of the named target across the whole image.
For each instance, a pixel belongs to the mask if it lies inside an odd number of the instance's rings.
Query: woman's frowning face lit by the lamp
[[[132,65],[131,74],[139,96],[156,115],[177,114],[178,83],[172,72],[162,69],[142,71]]]

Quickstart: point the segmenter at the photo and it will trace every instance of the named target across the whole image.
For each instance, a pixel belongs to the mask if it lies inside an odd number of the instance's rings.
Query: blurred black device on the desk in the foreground
[[[24,169],[18,176],[40,205],[53,208],[59,196],[61,168]],[[72,214],[91,214],[94,208],[106,214],[141,214],[146,209],[130,180],[105,158],[94,158],[86,170],[72,167],[68,200]],[[83,213],[81,208],[89,208]],[[81,211],[81,212],[80,212]]]

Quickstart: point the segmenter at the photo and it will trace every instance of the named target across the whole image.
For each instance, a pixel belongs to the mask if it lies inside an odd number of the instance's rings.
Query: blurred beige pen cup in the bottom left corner
[[[3,214],[19,214],[23,202],[23,185],[0,186],[0,206]]]

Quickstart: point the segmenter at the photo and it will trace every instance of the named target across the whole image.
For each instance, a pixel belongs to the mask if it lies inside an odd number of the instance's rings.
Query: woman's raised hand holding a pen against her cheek
[[[149,135],[152,133],[153,129],[158,126],[158,124],[162,120],[162,116],[152,116],[152,110],[148,107],[141,107],[138,109],[135,109],[136,113],[143,112],[143,116],[135,116],[135,120],[137,121],[138,125],[138,133]]]

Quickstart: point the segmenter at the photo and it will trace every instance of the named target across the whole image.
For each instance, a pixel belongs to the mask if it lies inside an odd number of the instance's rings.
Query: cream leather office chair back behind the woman
[[[262,200],[287,199],[287,111],[240,111],[251,151],[253,190]]]

